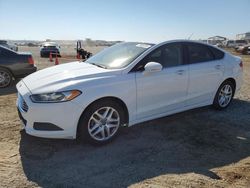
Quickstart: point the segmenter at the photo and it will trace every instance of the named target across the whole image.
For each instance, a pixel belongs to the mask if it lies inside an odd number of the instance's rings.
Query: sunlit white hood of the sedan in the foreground
[[[37,71],[23,79],[32,94],[78,89],[75,85],[121,74],[84,62],[72,62]]]

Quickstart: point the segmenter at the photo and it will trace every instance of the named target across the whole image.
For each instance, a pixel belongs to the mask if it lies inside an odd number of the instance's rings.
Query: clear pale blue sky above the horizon
[[[0,0],[0,39],[160,42],[250,31],[250,0]]]

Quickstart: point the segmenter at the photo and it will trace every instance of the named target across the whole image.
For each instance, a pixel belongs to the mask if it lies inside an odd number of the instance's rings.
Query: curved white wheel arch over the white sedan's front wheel
[[[107,100],[111,100],[111,101],[115,101],[116,103],[118,103],[119,105],[122,106],[122,108],[124,109],[124,112],[125,112],[125,124],[128,124],[129,122],[129,112],[128,112],[128,108],[127,108],[127,105],[125,104],[125,102],[118,98],[118,97],[114,97],[114,96],[107,96],[107,97],[102,97],[102,98],[99,98],[99,99],[96,99],[94,100],[93,102],[91,102],[84,110],[83,112],[81,113],[79,119],[78,119],[78,123],[77,123],[77,130],[76,130],[76,135],[78,137],[78,130],[79,130],[79,122],[80,122],[80,119],[82,116],[84,116],[85,112],[96,102],[101,102],[101,101],[107,101]]]

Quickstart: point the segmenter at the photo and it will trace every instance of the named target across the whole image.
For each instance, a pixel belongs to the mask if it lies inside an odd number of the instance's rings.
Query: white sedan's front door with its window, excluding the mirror
[[[146,56],[141,64],[157,62],[162,71],[136,72],[137,118],[150,119],[184,107],[187,96],[188,65],[183,62],[180,43],[166,44]]]

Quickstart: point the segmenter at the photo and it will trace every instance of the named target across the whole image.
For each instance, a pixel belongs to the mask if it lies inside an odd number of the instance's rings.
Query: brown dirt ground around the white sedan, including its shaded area
[[[20,50],[39,69],[53,65],[39,48]],[[244,85],[225,111],[205,107],[125,128],[102,147],[27,135],[15,87],[2,89],[0,187],[250,187],[250,56],[242,57]]]

